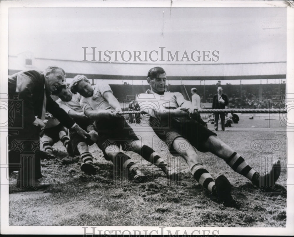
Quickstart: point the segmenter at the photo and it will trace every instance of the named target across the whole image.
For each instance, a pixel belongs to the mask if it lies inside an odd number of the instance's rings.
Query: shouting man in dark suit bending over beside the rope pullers
[[[39,134],[45,127],[46,110],[66,127],[74,128],[83,137],[89,136],[50,96],[64,79],[64,70],[53,66],[43,73],[22,71],[8,79],[9,99],[22,105],[15,112],[9,110],[9,160],[18,160],[20,164],[19,188],[44,189],[50,185],[38,180],[42,177]]]

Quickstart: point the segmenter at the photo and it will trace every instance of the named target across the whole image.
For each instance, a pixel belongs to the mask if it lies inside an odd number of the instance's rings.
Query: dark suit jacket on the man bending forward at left
[[[44,100],[45,76],[36,70],[21,71],[8,78],[9,99],[23,101],[24,125],[32,124],[36,119],[41,119]],[[59,107],[50,96],[51,92],[46,90],[46,110],[56,117],[64,126],[70,128],[74,125],[74,120]],[[14,116],[17,116],[14,114]]]

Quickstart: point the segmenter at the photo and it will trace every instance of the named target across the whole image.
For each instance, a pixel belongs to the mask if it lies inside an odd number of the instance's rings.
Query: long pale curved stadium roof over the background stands
[[[163,67],[168,80],[230,80],[230,79],[283,79],[286,62],[231,63],[231,64],[155,64],[82,62],[60,59],[34,58],[30,68],[44,70],[49,65],[62,67],[67,78],[84,74],[89,79],[145,80],[152,67]],[[9,56],[9,74],[29,69],[19,63],[17,56]]]

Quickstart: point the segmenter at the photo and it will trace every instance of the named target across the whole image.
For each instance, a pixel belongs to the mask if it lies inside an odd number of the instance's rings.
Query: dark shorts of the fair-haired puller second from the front
[[[96,120],[95,127],[99,137],[99,148],[105,152],[106,147],[117,145],[128,151],[128,142],[139,140],[124,117]]]

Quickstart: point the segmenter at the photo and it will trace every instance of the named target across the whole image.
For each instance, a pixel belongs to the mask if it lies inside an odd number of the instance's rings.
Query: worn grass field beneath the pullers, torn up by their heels
[[[273,120],[274,121],[274,120]],[[276,121],[278,123],[278,120]],[[255,128],[252,128],[255,126]],[[262,152],[273,151],[273,159],[287,163],[286,137],[268,127],[268,120],[241,118],[233,128],[242,131],[217,132],[218,137],[240,153],[257,171],[264,167]],[[213,125],[209,125],[213,128]],[[232,128],[232,129],[233,129]],[[256,130],[254,130],[256,129]],[[136,129],[134,129],[136,131]],[[201,226],[201,227],[285,227],[286,226],[286,168],[276,188],[279,194],[257,190],[249,180],[235,173],[223,160],[211,153],[200,153],[204,166],[213,178],[225,175],[232,184],[232,195],[241,203],[239,210],[227,208],[208,197],[208,193],[192,177],[182,158],[173,157],[152,132],[136,132],[145,144],[152,146],[169,163],[181,170],[181,181],[170,183],[161,170],[135,153],[128,154],[139,166],[153,173],[153,180],[135,184],[130,177],[121,178],[113,171],[111,162],[103,158],[96,145],[90,147],[94,162],[101,168],[96,175],[86,175],[78,157],[67,155],[61,142],[54,145],[56,159],[42,160],[42,180],[51,183],[45,190],[49,196],[9,201],[11,226]],[[260,140],[261,150],[251,142]],[[270,144],[282,144],[280,149]],[[251,145],[250,145],[251,144]],[[160,149],[161,148],[161,149]],[[15,183],[16,174],[10,177]],[[10,185],[10,191],[15,185]]]

